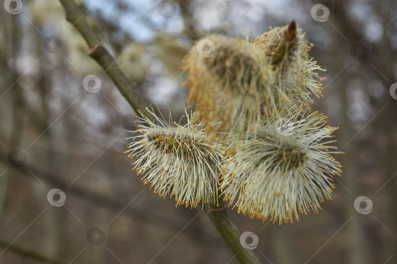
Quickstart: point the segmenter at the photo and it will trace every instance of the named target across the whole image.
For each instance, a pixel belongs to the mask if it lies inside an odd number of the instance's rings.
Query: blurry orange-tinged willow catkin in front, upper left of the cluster
[[[205,37],[215,45],[211,57],[194,46],[185,57],[188,102],[195,103],[199,121],[211,132],[242,133],[246,123],[259,119],[263,101],[273,101],[275,72],[265,54],[243,38]]]

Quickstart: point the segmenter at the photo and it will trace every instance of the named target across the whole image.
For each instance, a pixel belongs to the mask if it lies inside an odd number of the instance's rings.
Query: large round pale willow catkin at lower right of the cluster
[[[244,138],[231,139],[223,163],[221,189],[229,205],[250,218],[288,222],[298,212],[318,212],[330,198],[332,176],[341,165],[330,155],[336,147],[320,142],[337,128],[325,116],[284,114],[269,119]]]

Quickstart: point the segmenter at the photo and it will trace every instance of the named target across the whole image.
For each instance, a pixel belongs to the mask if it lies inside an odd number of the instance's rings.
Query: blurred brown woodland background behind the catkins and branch
[[[397,263],[396,1],[77,3],[128,78],[160,109],[169,100],[176,120],[187,94],[179,66],[194,40],[255,38],[295,19],[327,69],[313,109],[340,127],[343,177],[319,215],[278,225],[229,210],[228,219],[258,236],[262,263]],[[237,263],[199,208],[175,208],[131,171],[123,151],[135,113],[58,1],[6,0],[0,36],[0,263]],[[96,92],[83,88],[89,74]],[[50,204],[53,188],[62,206]],[[354,207],[360,196],[372,201],[367,212]]]

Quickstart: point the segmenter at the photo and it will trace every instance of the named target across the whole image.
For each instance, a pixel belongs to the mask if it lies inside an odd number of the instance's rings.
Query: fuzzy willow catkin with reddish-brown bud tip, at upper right
[[[290,24],[291,25],[291,24]],[[305,32],[296,25],[295,38],[286,42],[285,34],[288,26],[275,27],[264,32],[255,40],[254,46],[266,54],[266,63],[273,66],[276,72],[275,90],[278,91],[278,106],[282,110],[292,104],[307,108],[313,103],[313,97],[322,96],[324,80],[316,70],[325,71],[308,54],[313,44],[309,43]],[[284,56],[274,64],[277,48],[283,48]],[[279,51],[278,51],[279,52]],[[275,107],[272,105],[272,108]]]

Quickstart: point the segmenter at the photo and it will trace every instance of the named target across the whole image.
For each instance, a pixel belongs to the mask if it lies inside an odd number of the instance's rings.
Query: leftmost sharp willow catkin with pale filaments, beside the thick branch
[[[129,157],[143,182],[150,183],[154,193],[165,198],[174,196],[176,205],[196,207],[200,202],[218,201],[218,169],[223,159],[222,146],[210,141],[201,124],[191,122],[192,114],[186,113],[187,124],[181,126],[166,122],[147,109],[155,119],[149,120],[143,113],[137,122],[139,133],[128,144]],[[181,117],[181,119],[184,116]]]

